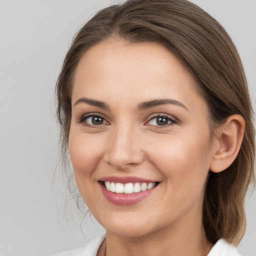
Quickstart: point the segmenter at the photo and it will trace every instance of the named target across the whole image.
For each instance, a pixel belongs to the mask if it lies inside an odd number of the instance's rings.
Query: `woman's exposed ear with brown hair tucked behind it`
[[[245,121],[239,114],[228,116],[216,129],[210,170],[220,172],[226,169],[237,156],[243,138]]]

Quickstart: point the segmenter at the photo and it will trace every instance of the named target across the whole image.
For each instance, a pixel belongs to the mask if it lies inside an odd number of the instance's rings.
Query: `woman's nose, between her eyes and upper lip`
[[[140,164],[144,156],[139,140],[139,132],[133,127],[121,125],[113,129],[104,155],[105,161],[116,169]]]

